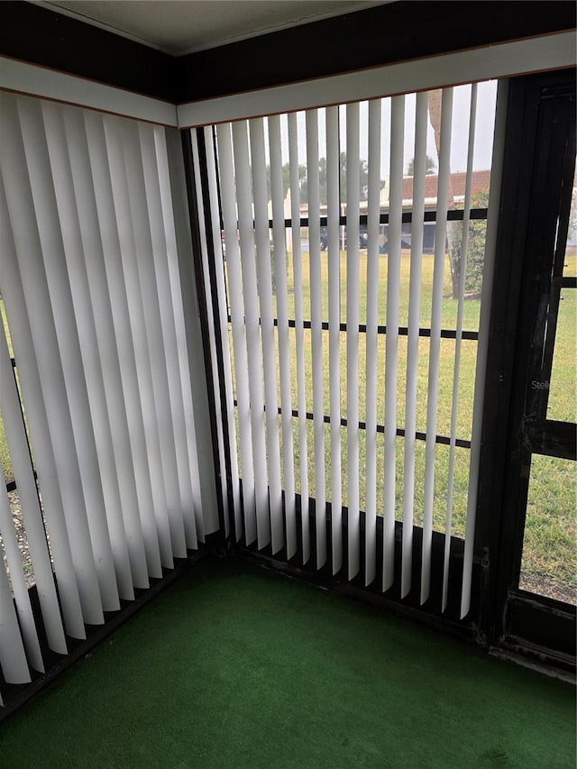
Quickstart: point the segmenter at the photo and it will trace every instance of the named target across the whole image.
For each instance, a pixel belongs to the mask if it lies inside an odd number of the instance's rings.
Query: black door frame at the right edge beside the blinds
[[[549,190],[560,187],[566,151],[561,105],[574,115],[573,69],[509,81],[475,549],[483,555],[485,643],[574,671],[575,607],[518,589],[527,451],[535,449],[527,444],[525,415],[538,406],[529,384],[537,352],[531,335],[551,288],[560,197]],[[558,432],[567,455],[574,454],[574,430]]]

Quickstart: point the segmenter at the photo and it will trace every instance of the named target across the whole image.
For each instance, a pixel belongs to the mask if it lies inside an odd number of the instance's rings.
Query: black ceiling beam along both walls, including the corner
[[[398,0],[173,58],[25,2],[0,3],[0,55],[184,103],[574,30],[577,5]]]

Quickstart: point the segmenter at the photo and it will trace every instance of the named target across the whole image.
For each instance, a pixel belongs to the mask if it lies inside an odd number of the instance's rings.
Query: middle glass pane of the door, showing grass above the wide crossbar
[[[561,289],[547,419],[577,422],[577,291]]]

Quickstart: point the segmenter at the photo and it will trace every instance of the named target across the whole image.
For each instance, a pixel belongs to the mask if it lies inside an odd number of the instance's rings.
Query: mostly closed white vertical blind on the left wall
[[[4,93],[0,134],[0,411],[41,609],[2,490],[0,665],[23,683],[44,669],[41,636],[65,655],[218,524],[169,129]]]

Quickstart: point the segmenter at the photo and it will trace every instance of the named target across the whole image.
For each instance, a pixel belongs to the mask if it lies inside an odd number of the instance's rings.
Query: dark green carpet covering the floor
[[[574,700],[470,645],[210,561],[0,724],[0,765],[573,769]]]

